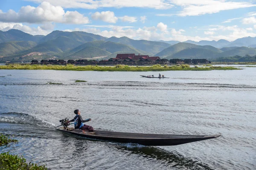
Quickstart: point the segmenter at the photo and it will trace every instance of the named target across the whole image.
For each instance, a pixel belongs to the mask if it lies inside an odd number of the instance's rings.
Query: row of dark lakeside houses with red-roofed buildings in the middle
[[[41,65],[168,65],[168,64],[208,64],[211,63],[207,59],[160,59],[160,57],[149,57],[148,55],[135,55],[135,54],[117,54],[116,58],[104,59],[104,60],[87,60],[87,59],[69,59],[65,61],[64,59],[42,59],[40,62],[36,59],[31,61],[31,64],[41,64]]]

